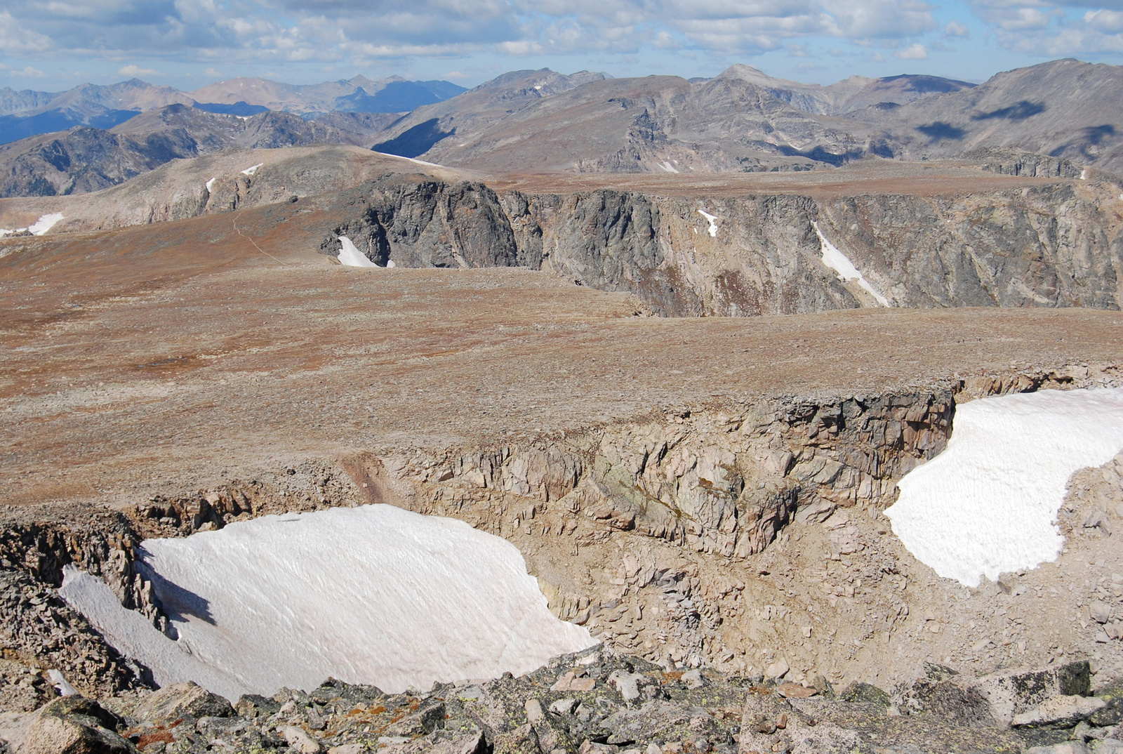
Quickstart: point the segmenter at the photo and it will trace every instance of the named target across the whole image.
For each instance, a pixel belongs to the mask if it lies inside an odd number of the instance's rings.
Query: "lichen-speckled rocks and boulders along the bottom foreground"
[[[100,700],[77,694],[0,714],[0,752],[807,754],[1123,752],[1123,683],[1093,688],[1088,661],[983,678],[924,665],[883,690],[667,671],[604,647],[523,675],[387,694],[328,679],[237,703],[193,684]],[[58,688],[72,691],[55,676]],[[49,687],[40,678],[38,685]]]

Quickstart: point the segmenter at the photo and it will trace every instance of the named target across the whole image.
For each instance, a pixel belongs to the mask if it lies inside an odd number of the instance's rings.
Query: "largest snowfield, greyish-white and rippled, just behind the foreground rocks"
[[[158,683],[193,680],[229,699],[328,676],[398,692],[518,675],[595,644],[550,614],[513,545],[393,506],[266,516],[141,547],[179,641],[93,576],[67,572],[61,593]]]

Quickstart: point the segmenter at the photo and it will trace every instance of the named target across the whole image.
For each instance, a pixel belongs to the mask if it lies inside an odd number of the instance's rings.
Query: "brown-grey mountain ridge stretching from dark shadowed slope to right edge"
[[[493,173],[802,171],[995,151],[1010,164],[1123,170],[1114,65],[1053,61],[979,85],[905,75],[830,87],[734,65],[703,80],[602,78],[549,97],[535,89],[540,75],[418,108],[374,148]]]

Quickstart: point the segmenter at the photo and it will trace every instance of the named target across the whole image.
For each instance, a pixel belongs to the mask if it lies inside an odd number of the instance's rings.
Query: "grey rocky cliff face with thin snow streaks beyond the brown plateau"
[[[842,252],[892,306],[1123,302],[1117,187],[1050,183],[922,197],[860,193],[684,199],[600,190],[496,193],[386,176],[354,190],[348,235],[378,264],[520,265],[640,297],[672,316],[805,314],[878,306],[823,262]]]

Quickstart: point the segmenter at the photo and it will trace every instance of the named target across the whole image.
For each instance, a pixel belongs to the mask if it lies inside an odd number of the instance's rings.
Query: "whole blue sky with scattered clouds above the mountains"
[[[0,88],[140,78],[363,74],[464,87],[550,67],[713,76],[733,63],[831,83],[984,81],[1059,57],[1123,63],[1123,0],[4,0]]]

